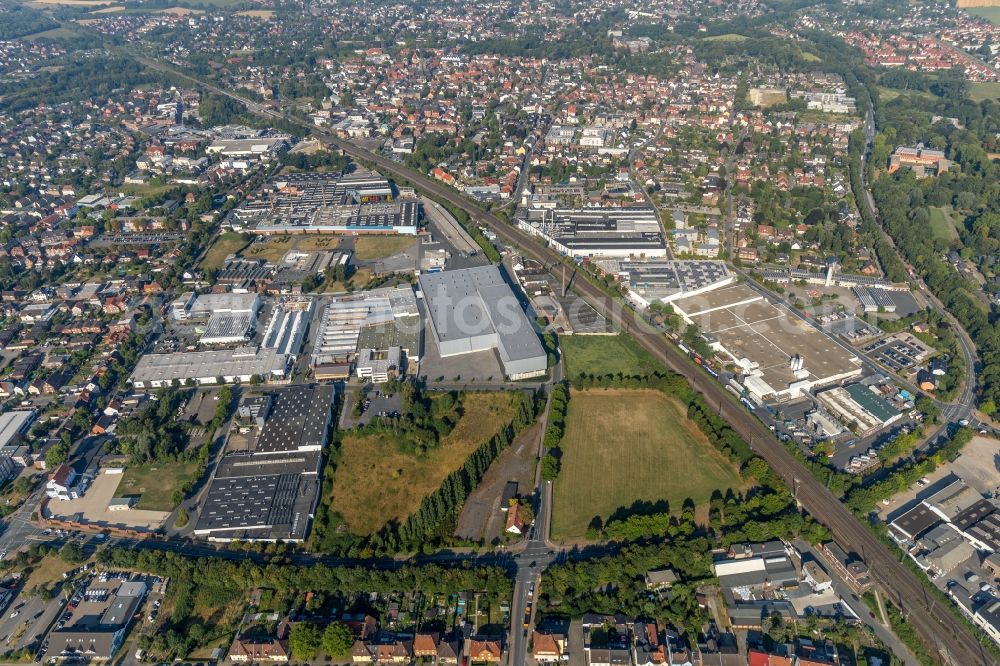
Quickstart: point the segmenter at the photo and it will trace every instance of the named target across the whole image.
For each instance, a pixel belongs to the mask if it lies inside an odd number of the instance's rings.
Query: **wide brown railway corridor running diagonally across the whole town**
[[[557,252],[542,246],[537,239],[504,222],[496,215],[483,210],[442,183],[404,165],[333,136],[330,132],[311,127],[303,121],[277,111],[269,106],[243,98],[231,90],[205,83],[177,68],[133,54],[143,64],[188,80],[199,87],[234,99],[256,114],[302,126],[315,138],[343,150],[351,157],[381,169],[386,174],[409,181],[426,194],[446,201],[468,213],[477,224],[488,227],[505,243],[516,247],[525,256],[546,266],[562,261]],[[755,416],[746,411],[723,387],[698,369],[680,350],[662,334],[656,332],[633,310],[622,307],[587,279],[572,281],[572,289],[587,300],[599,313],[622,330],[633,336],[650,353],[662,360],[668,368],[687,377],[691,386],[704,395],[708,404],[746,439],[753,450],[780,474],[792,488],[799,504],[817,520],[826,525],[834,539],[848,550],[859,553],[868,563],[875,580],[885,589],[887,596],[902,608],[908,622],[919,632],[924,641],[940,655],[943,663],[953,666],[973,666],[994,663],[985,648],[976,640],[968,627],[960,623],[944,604],[934,603],[916,575],[904,567],[897,556],[881,543],[874,534],[840,502],[822,483],[775,439],[774,435]],[[517,618],[512,618],[513,622]]]

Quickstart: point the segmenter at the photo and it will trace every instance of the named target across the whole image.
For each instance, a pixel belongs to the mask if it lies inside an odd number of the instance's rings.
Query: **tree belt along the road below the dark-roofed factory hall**
[[[377,592],[423,592],[455,594],[473,590],[500,599],[511,594],[511,582],[499,567],[407,565],[394,570],[374,567],[329,566],[322,563],[293,565],[280,558],[267,564],[249,559],[224,560],[214,557],[188,558],[178,553],[114,548],[101,552],[102,564],[144,571],[170,578],[172,608],[155,633],[144,634],[140,647],[157,658],[187,656],[192,650],[227,636],[231,637],[242,613],[223,613],[225,608],[243,604],[255,588],[268,588],[285,598],[301,598],[306,592],[323,590],[348,597]],[[210,609],[207,623],[195,608]],[[287,609],[291,610],[291,609]],[[232,619],[225,619],[232,618]],[[331,645],[332,645],[331,635]],[[321,639],[322,644],[322,639]],[[324,646],[325,647],[325,646]]]

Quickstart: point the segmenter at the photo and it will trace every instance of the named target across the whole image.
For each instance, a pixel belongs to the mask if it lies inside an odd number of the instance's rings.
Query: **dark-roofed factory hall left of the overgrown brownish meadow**
[[[319,500],[334,391],[331,385],[290,386],[243,398],[234,424],[238,433],[230,434],[195,535],[210,541],[305,540]]]

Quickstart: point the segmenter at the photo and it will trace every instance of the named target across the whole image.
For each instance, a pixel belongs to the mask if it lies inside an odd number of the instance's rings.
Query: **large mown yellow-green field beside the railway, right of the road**
[[[637,501],[707,502],[712,491],[745,487],[680,403],[658,391],[574,391],[566,416],[562,470],[555,482],[552,535],[583,537]]]

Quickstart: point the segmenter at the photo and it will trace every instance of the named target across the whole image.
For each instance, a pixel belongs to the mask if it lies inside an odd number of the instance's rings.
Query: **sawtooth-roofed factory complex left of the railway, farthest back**
[[[420,206],[396,200],[374,171],[282,175],[233,209],[224,222],[255,234],[347,233],[416,235]]]

